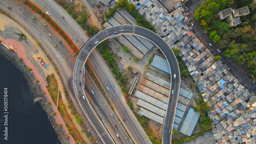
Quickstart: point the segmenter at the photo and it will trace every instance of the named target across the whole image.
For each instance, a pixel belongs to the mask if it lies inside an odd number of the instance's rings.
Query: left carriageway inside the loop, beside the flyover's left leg
[[[113,113],[113,115],[115,115],[115,113],[111,110],[108,103],[106,103],[98,87],[95,85],[95,83],[89,76],[88,71],[86,72],[85,81],[85,91],[88,91],[88,94],[86,95],[89,97],[89,99],[91,99],[90,103],[92,104],[92,107],[93,105],[96,105],[96,111],[99,113],[99,116],[101,117],[102,121],[106,124],[106,127],[108,127],[108,129],[110,130],[115,141],[117,143],[127,143],[127,140],[125,139],[125,136],[127,134],[123,129],[119,129],[121,125],[118,125],[118,119],[116,118],[116,116],[111,116],[111,113]],[[92,94],[92,90],[94,91],[94,94]],[[114,124],[117,125],[117,128],[114,126]],[[116,136],[116,133],[118,133],[119,138]]]

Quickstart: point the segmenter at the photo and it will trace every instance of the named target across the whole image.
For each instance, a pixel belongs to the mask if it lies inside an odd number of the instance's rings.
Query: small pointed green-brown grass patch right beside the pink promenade
[[[55,79],[54,75],[50,75],[46,78],[47,80],[47,89],[52,97],[52,100],[54,104],[56,105],[57,103],[57,96],[58,96],[58,83],[57,80]]]

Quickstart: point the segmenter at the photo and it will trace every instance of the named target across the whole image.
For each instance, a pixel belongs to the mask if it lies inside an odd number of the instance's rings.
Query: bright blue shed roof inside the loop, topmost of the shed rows
[[[151,65],[156,68],[159,68],[160,70],[165,71],[165,73],[170,74],[170,68],[167,60],[162,57],[159,57],[158,55],[154,56],[154,59]]]

